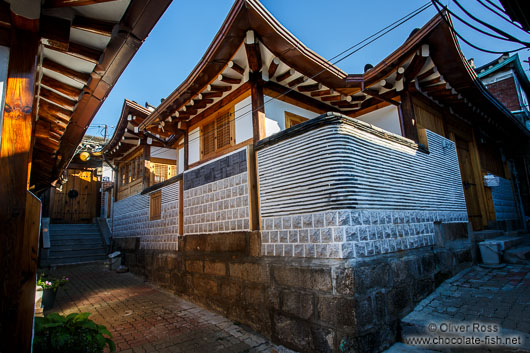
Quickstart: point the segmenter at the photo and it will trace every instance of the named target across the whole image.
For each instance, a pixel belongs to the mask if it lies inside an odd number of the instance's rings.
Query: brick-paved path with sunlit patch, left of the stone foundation
[[[108,271],[102,263],[58,267],[65,275],[55,307],[91,319],[112,332],[117,352],[287,352],[266,339],[130,273]]]

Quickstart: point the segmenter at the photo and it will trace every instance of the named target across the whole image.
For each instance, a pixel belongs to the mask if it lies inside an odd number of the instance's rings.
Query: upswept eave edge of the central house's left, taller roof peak
[[[247,30],[254,30],[261,42],[287,65],[330,87],[347,83],[346,73],[306,47],[283,27],[257,0],[237,0],[223,25],[193,71],[140,126],[152,124],[166,110],[182,106],[216,77],[243,42]]]

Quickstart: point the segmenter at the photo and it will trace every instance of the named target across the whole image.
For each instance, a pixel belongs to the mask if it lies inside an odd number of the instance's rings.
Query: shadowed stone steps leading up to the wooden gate
[[[107,248],[97,224],[50,224],[46,266],[105,260]]]

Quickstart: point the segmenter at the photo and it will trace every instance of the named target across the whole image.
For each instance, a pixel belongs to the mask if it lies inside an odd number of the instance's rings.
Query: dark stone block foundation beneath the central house
[[[179,237],[178,251],[115,239],[136,274],[300,352],[372,352],[398,322],[471,261],[424,247],[341,259],[262,256],[259,232]],[[256,250],[258,249],[258,250]]]

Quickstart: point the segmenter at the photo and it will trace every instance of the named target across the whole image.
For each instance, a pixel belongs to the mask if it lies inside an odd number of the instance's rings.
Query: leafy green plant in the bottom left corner
[[[112,334],[88,317],[90,313],[62,316],[52,313],[35,318],[35,353],[102,353],[108,345],[116,351]]]

